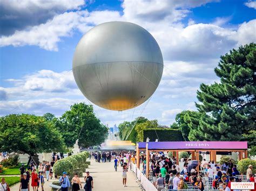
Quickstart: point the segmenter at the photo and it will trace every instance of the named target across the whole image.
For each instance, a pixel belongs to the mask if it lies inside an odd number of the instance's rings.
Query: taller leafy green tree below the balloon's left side
[[[56,123],[68,147],[75,144],[79,136],[79,146],[100,145],[107,137],[107,128],[95,116],[92,105],[76,103],[60,117]]]

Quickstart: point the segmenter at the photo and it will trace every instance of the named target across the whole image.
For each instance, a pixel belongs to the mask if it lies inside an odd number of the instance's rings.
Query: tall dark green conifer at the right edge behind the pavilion
[[[188,116],[190,140],[242,140],[241,135],[245,137],[255,130],[255,68],[254,43],[232,49],[220,57],[214,70],[220,83],[200,85],[197,97],[201,103],[196,106],[201,115],[199,118]]]

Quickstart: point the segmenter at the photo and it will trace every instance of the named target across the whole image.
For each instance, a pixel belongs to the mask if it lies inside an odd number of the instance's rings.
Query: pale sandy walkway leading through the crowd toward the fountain
[[[90,160],[88,160],[90,161]],[[112,191],[112,190],[134,190],[139,191],[141,190],[136,182],[135,176],[130,171],[127,172],[127,187],[123,187],[123,178],[122,178],[122,168],[117,168],[117,172],[114,171],[114,162],[105,162],[105,163],[98,163],[95,160],[91,160],[91,165],[89,166],[88,170],[90,171],[90,175],[93,178],[94,188],[95,191]],[[86,173],[83,173],[85,176]],[[82,186],[84,187],[84,178],[80,178],[82,182]],[[50,183],[53,181],[58,181],[56,179],[52,179],[49,181],[45,180],[44,190],[50,191]],[[31,182],[31,181],[30,181]],[[19,183],[12,186],[11,190],[19,190]],[[32,187],[30,187],[32,190]],[[39,188],[41,191],[41,188]]]

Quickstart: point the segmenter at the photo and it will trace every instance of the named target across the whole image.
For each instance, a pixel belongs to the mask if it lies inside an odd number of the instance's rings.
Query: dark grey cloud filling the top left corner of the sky
[[[16,30],[45,23],[66,10],[78,9],[84,0],[2,0],[0,1],[0,36],[9,36]]]

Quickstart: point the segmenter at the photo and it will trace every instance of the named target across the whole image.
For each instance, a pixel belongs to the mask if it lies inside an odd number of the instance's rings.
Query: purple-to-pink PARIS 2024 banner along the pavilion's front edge
[[[149,150],[247,149],[247,142],[149,142]]]

